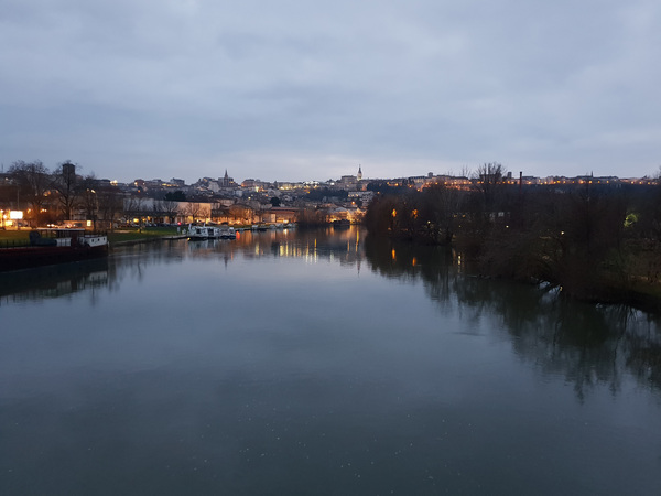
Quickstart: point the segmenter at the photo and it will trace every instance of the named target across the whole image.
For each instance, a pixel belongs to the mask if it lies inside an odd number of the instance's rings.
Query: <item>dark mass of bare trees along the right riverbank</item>
[[[661,299],[661,185],[522,187],[488,163],[468,188],[433,184],[379,194],[375,235],[451,246],[489,277],[546,281],[585,300]]]

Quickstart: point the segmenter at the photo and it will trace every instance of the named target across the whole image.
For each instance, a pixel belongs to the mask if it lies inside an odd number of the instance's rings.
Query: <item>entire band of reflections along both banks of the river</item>
[[[226,267],[237,260],[301,258],[367,267],[389,279],[421,280],[442,314],[457,312],[475,323],[498,321],[520,359],[544,375],[557,375],[585,398],[597,386],[621,389],[631,374],[650,389],[661,388],[661,334],[658,316],[628,306],[589,305],[543,288],[485,280],[463,273],[460,256],[438,247],[365,236],[359,228],[241,233],[236,240],[156,242],[116,250],[91,260],[0,274],[0,305],[87,292],[94,304],[102,291],[120,291],[127,279],[142,280],[150,266],[205,259]]]

